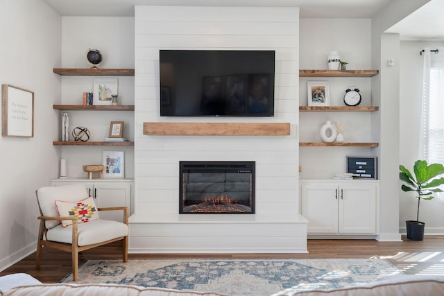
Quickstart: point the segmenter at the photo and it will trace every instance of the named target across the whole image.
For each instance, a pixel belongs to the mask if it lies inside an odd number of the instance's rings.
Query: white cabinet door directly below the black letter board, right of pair
[[[376,233],[376,194],[376,185],[371,183],[339,185],[339,233]]]

